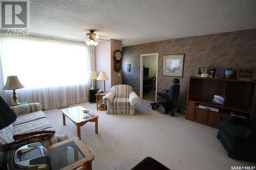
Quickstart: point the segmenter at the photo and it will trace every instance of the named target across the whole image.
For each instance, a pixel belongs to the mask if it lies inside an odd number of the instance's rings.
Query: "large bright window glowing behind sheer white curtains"
[[[6,36],[0,41],[4,82],[17,75],[26,88],[87,83],[86,44],[35,36]]]

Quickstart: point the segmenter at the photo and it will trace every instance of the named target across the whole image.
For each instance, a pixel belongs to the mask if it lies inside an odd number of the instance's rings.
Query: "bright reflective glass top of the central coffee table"
[[[84,113],[84,110],[87,109],[83,108],[82,106],[77,106],[68,109],[63,109],[61,111],[62,113],[66,114],[69,118],[71,118],[75,123],[80,123],[95,116],[91,113]]]

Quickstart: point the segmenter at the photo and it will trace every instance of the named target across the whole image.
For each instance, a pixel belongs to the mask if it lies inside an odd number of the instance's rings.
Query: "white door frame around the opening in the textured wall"
[[[158,53],[152,53],[152,54],[141,54],[140,55],[140,100],[143,99],[143,56],[157,56],[157,75],[156,75],[156,99],[157,101],[157,77],[158,77]]]

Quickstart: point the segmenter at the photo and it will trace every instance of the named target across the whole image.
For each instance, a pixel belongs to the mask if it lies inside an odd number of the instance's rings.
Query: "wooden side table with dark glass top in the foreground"
[[[94,156],[78,137],[52,144],[47,149],[51,157],[52,170],[77,169],[81,166],[83,169],[92,169]]]

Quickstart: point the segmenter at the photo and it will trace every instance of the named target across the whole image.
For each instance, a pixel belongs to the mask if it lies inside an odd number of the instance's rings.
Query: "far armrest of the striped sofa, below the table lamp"
[[[40,103],[29,103],[25,105],[12,106],[11,109],[14,111],[14,113],[17,116],[19,116],[19,115],[40,111],[41,105]]]

